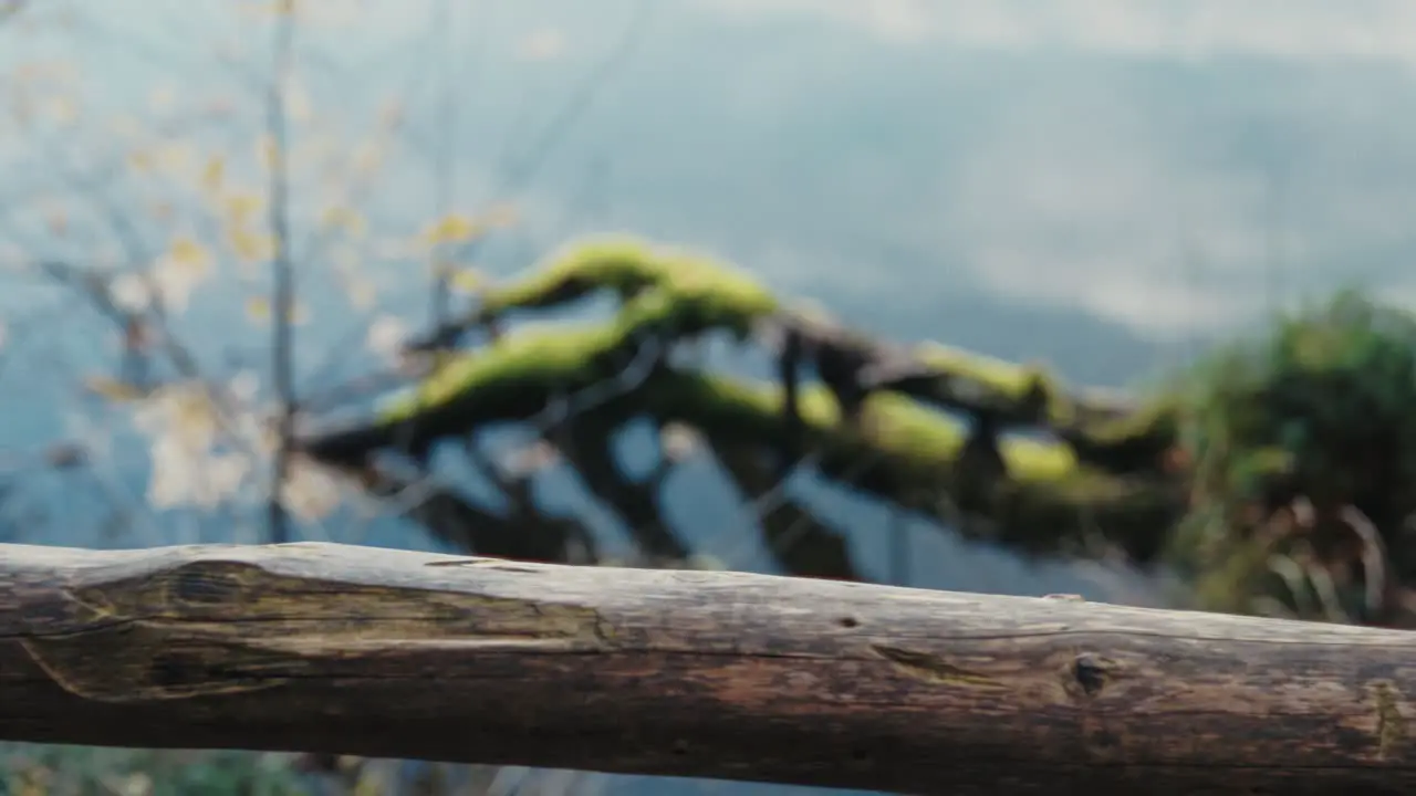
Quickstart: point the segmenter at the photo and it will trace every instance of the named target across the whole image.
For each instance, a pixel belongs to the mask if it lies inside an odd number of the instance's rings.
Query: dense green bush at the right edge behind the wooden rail
[[[1355,293],[1216,351],[1175,559],[1202,605],[1412,626],[1416,319]]]

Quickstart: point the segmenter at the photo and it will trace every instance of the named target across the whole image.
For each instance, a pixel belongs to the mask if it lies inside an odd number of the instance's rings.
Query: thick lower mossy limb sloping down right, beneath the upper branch
[[[782,394],[770,385],[673,371],[626,401],[714,440],[775,446],[782,433]],[[801,416],[821,474],[946,523],[959,520],[950,496],[967,432],[957,421],[878,394],[865,401],[860,426],[848,426],[820,387],[803,391]],[[1010,477],[997,493],[997,513],[990,521],[957,524],[978,541],[1051,555],[1080,551],[1099,537],[1147,564],[1164,548],[1167,523],[1182,511],[1184,489],[1167,480],[1093,470],[1058,443],[1007,439],[1001,448]]]

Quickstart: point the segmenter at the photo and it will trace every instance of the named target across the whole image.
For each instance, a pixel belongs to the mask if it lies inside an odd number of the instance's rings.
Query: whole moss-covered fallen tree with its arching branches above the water
[[[830,319],[783,310],[746,275],[701,256],[633,239],[586,244],[527,280],[493,289],[464,323],[596,290],[623,299],[613,319],[443,354],[445,367],[378,419],[307,435],[303,448],[336,463],[394,445],[422,456],[438,439],[491,422],[535,421],[556,402],[599,390],[607,395],[593,411],[603,416],[683,421],[712,439],[772,446],[790,459],[799,448],[818,450],[817,467],[845,486],[946,521],[960,520],[963,508],[964,521],[954,523],[963,533],[1029,554],[1102,540],[1147,564],[1182,513],[1184,490],[1158,466],[1174,445],[1168,409],[1080,401],[1037,368],[937,346],[906,351],[877,343]],[[814,365],[820,382],[787,380],[789,404],[782,391],[664,364],[675,343],[712,330],[794,340],[793,351]],[[436,337],[446,340],[446,330]],[[660,351],[656,364],[637,384],[613,388],[646,350]],[[969,411],[974,433],[920,401]],[[997,438],[1001,425],[1015,422],[1042,422],[1063,440]],[[596,450],[589,445],[585,455]],[[582,477],[592,491],[627,511],[632,527],[654,534],[641,540],[650,554],[673,552],[671,537],[656,531],[663,524],[653,500],[612,483],[607,462],[588,462]]]

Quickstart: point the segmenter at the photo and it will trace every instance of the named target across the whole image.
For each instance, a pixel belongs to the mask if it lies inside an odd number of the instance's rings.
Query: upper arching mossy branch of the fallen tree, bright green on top
[[[789,339],[807,348],[818,378],[852,406],[864,394],[899,392],[940,408],[986,414],[1003,425],[1041,426],[1090,465],[1117,473],[1165,466],[1175,446],[1175,406],[1137,406],[1080,395],[1037,365],[1017,365],[936,343],[905,347],[852,331],[818,312],[783,306],[736,268],[690,251],[632,237],[593,238],[552,255],[530,276],[489,289],[462,320],[411,344],[446,347],[469,329],[517,310],[559,307],[609,292],[624,324],[691,337],[725,329],[739,339]],[[649,329],[653,327],[653,329]]]

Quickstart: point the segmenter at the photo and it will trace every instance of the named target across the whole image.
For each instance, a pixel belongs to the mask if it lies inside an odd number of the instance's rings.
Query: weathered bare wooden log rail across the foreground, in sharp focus
[[[0,738],[910,793],[1416,792],[1402,632],[327,544],[0,545]]]

